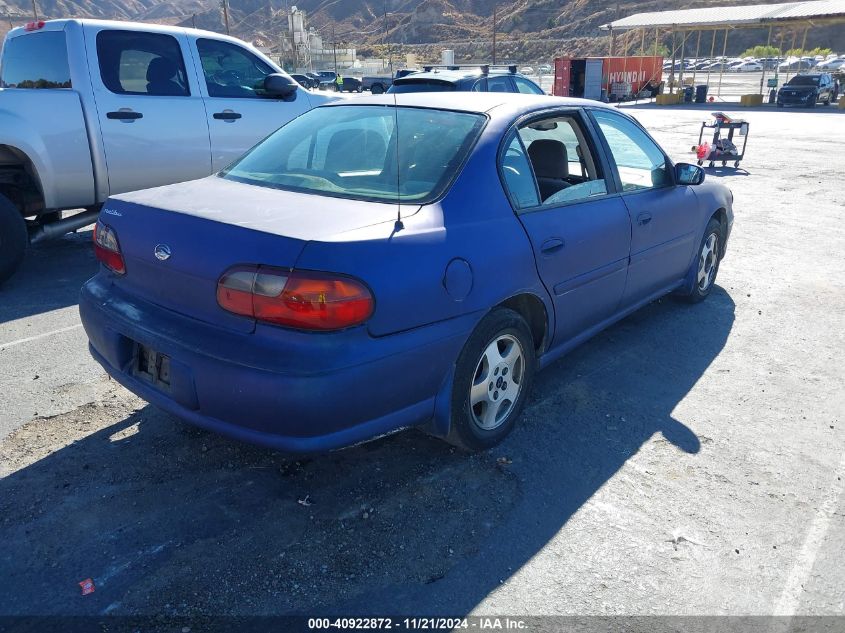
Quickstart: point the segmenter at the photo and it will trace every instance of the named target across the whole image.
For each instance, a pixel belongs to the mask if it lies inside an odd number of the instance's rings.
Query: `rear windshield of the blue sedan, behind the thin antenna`
[[[425,204],[449,186],[484,121],[480,114],[424,108],[316,108],[221,176],[289,191]]]

